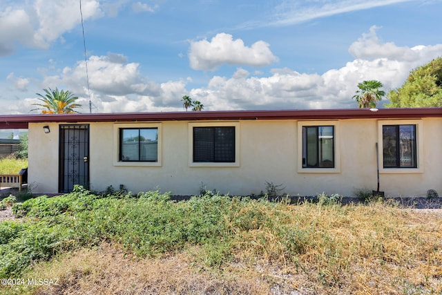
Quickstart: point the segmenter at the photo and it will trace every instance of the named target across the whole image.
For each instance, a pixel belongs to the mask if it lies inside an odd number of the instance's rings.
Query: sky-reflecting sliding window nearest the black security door
[[[119,129],[119,161],[157,162],[157,128]]]

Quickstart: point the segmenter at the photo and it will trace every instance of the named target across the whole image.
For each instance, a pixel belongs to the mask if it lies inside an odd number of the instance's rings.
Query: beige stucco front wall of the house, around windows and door
[[[189,165],[189,124],[195,122],[145,123],[160,127],[161,151],[157,166],[117,166],[116,130],[120,125],[90,123],[91,189],[102,191],[110,185],[118,189],[119,184],[124,184],[133,193],[160,189],[194,195],[204,185],[221,193],[249,195],[265,191],[266,181],[283,184],[284,192],[294,196],[313,196],[323,191],[353,196],[357,189],[376,189],[375,144],[381,138],[378,120],[329,120],[310,124],[325,122],[336,126],[338,169],[328,171],[300,167],[299,131],[302,124],[309,124],[305,121],[232,122],[239,132],[238,163],[225,167]],[[427,189],[442,193],[442,119],[424,118],[418,122],[419,169],[381,171],[380,190],[387,196],[424,196]],[[45,125],[50,126],[48,134],[43,131]],[[57,192],[58,145],[57,124],[30,124],[28,171],[35,192]]]

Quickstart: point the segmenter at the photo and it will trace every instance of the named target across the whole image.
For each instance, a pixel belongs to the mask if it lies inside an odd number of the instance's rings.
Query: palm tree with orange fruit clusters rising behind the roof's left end
[[[43,114],[62,114],[62,113],[78,113],[74,111],[74,108],[78,108],[81,104],[75,104],[75,101],[78,99],[77,96],[74,96],[70,91],[59,91],[58,88],[52,90],[51,88],[44,89],[46,95],[41,95],[40,93],[36,93],[39,96],[39,100],[43,102],[42,104],[32,104],[33,106],[41,106]],[[35,110],[41,110],[41,108],[35,108]]]

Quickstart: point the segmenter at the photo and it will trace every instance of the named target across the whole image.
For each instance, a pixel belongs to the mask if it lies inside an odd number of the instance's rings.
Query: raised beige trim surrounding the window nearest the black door
[[[121,153],[122,129],[157,129],[157,161],[122,161],[119,156]],[[114,124],[114,143],[113,143],[113,165],[114,166],[162,166],[162,124],[161,123],[128,123]]]

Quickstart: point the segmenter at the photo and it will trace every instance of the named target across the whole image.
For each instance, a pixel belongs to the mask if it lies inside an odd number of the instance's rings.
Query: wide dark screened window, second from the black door
[[[235,126],[193,127],[193,162],[236,162]]]

